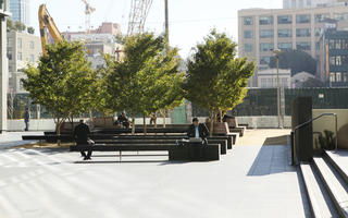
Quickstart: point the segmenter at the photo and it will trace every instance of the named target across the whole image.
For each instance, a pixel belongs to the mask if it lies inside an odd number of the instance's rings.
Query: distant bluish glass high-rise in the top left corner
[[[30,0],[10,0],[10,12],[13,21],[20,21],[26,26],[29,25]]]

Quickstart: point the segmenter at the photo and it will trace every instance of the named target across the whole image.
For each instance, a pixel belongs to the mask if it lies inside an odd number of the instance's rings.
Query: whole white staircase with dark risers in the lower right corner
[[[332,154],[325,152],[323,157],[314,157],[312,162],[300,165],[314,218],[348,218],[348,156],[339,162]]]

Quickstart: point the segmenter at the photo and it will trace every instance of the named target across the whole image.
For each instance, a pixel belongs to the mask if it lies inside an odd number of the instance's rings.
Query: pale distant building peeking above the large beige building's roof
[[[345,4],[339,0],[283,0],[283,9],[304,9]]]

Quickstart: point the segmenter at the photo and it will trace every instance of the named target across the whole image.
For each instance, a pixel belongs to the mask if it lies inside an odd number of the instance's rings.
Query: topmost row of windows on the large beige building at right
[[[293,15],[277,15],[277,24],[293,24]],[[314,14],[314,22],[322,23],[325,19],[330,19],[328,13],[323,14]],[[337,21],[348,21],[348,13],[335,13],[334,19]],[[274,23],[273,15],[260,16],[259,17],[259,25],[272,25]],[[244,25],[253,25],[253,17],[252,16],[245,16],[243,17]],[[311,14],[297,14],[296,15],[296,23],[297,24],[308,24],[311,23]]]

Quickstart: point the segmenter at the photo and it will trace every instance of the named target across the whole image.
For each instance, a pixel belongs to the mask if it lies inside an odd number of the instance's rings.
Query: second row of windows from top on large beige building
[[[277,31],[278,38],[291,38],[293,29],[290,28],[281,28]],[[320,36],[321,28],[315,28],[315,36]],[[273,38],[274,31],[273,29],[260,29],[260,38]],[[244,32],[245,38],[253,38],[252,31]],[[296,28],[296,37],[311,37],[310,28]]]

